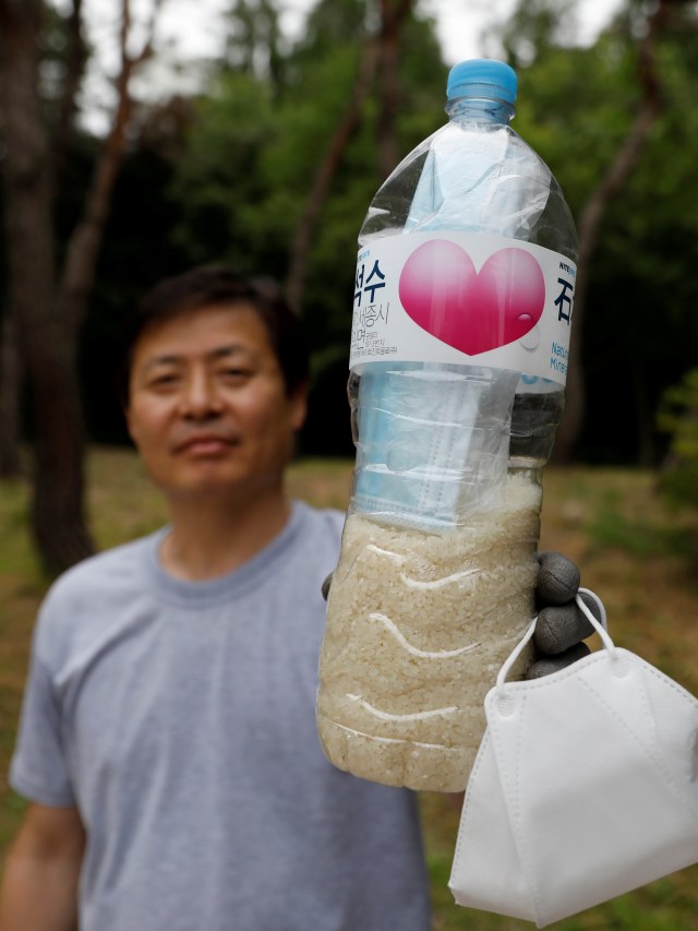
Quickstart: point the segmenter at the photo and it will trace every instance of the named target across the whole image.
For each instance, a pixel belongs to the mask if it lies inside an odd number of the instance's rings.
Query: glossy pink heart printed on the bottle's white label
[[[431,239],[405,263],[399,296],[422,330],[477,356],[514,343],[535,326],[545,306],[545,279],[524,249],[501,249],[476,272],[460,246]]]

